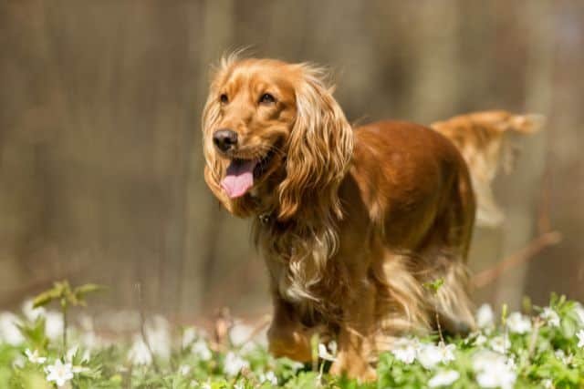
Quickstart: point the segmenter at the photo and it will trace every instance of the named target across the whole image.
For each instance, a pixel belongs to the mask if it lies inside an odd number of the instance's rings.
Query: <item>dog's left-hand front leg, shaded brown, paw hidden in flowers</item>
[[[297,311],[289,302],[274,296],[274,319],[267,331],[269,351],[276,357],[286,356],[298,362],[310,362],[310,338],[324,329],[303,325]]]

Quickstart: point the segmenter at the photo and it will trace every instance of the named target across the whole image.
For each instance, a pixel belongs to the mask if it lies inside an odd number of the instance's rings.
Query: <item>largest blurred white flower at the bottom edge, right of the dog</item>
[[[511,389],[516,381],[516,373],[500,353],[489,350],[474,353],[473,369],[476,382],[483,388]]]

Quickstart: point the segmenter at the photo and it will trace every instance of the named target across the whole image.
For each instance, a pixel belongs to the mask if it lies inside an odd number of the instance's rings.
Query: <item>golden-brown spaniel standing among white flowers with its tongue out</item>
[[[270,352],[308,362],[318,334],[338,343],[331,374],[370,381],[395,337],[435,318],[448,332],[474,328],[466,258],[481,167],[464,158],[497,140],[466,142],[476,130],[458,122],[353,128],[325,79],[306,63],[224,57],[203,109],[204,179],[253,220]],[[498,155],[485,163],[496,169]],[[424,287],[435,280],[437,291]]]

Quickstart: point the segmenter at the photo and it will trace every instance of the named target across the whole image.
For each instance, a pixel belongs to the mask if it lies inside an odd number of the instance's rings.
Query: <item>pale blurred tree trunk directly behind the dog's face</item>
[[[193,77],[194,85],[199,86],[196,97],[193,98],[195,107],[184,107],[190,113],[191,126],[189,145],[192,147],[187,153],[188,174],[186,179],[185,196],[185,230],[184,253],[182,256],[181,273],[178,282],[182,285],[178,293],[180,306],[179,314],[193,314],[201,312],[205,299],[213,288],[210,282],[214,278],[214,264],[217,258],[216,242],[221,241],[219,236],[223,220],[223,212],[219,210],[209,189],[203,181],[203,134],[201,133],[201,112],[205,99],[212,64],[217,64],[219,58],[226,54],[227,47],[231,46],[235,20],[233,15],[234,0],[205,1],[196,10],[201,14],[201,26],[191,26],[189,35],[189,53],[193,62],[198,65],[198,72]]]

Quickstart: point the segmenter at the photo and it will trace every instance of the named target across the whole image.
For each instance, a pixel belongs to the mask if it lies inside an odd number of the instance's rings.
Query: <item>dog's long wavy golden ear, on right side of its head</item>
[[[338,189],[353,150],[352,128],[325,86],[323,72],[297,67],[297,118],[288,138],[287,177],[277,189],[278,220],[299,210],[305,212],[300,217],[328,217],[329,211],[341,217]],[[316,213],[307,214],[310,210]]]

